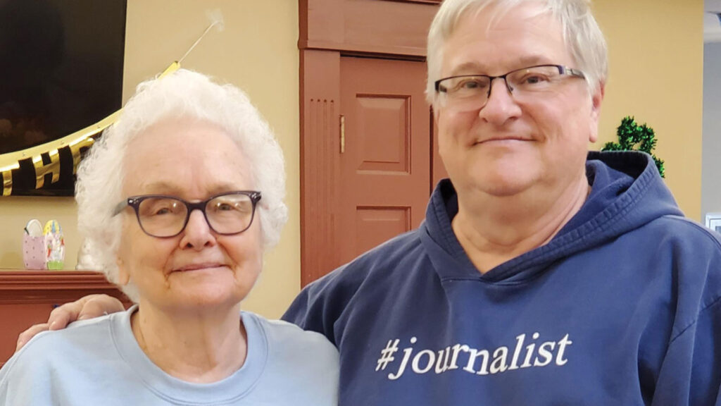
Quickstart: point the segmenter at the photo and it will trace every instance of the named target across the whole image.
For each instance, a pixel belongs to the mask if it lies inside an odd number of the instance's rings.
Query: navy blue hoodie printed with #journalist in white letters
[[[284,318],[340,350],[340,405],[721,405],[720,236],[647,155],[587,176],[552,241],[483,275],[442,181],[420,228],[307,286]]]

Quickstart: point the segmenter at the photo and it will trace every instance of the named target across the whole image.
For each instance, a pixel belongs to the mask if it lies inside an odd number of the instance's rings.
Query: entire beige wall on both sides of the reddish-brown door
[[[246,90],[286,154],[291,220],[244,305],[270,317],[282,314],[300,278],[297,7],[296,0],[128,1],[125,100],[138,82],[185,53],[208,25],[206,9],[223,12],[226,29],[210,33],[183,66]],[[658,134],[667,183],[691,218],[699,218],[701,202],[702,8],[702,0],[595,1],[611,59],[595,147],[616,140],[623,116],[647,122]],[[0,268],[22,267],[19,240],[30,217],[60,221],[66,267],[74,267],[79,236],[73,200],[9,197],[0,199]]]

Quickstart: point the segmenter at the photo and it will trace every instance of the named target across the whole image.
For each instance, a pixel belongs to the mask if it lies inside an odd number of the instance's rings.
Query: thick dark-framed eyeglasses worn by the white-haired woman
[[[260,191],[230,191],[216,194],[203,202],[186,202],[176,196],[146,194],[120,202],[112,215],[133,207],[140,228],[149,236],[169,238],[185,230],[193,210],[203,212],[211,230],[224,236],[239,234],[253,223]]]

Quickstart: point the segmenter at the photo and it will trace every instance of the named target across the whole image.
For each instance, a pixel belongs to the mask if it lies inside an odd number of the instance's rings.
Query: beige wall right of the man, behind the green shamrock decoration
[[[666,184],[686,216],[701,217],[704,39],[702,0],[595,0],[609,43],[610,79],[601,139],[635,116],[656,133]]]

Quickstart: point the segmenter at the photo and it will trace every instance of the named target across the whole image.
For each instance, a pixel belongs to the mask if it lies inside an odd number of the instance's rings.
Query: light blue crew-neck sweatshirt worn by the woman
[[[213,384],[146,357],[128,311],[38,334],[0,370],[0,405],[336,405],[337,350],[325,337],[243,312],[244,365]]]

